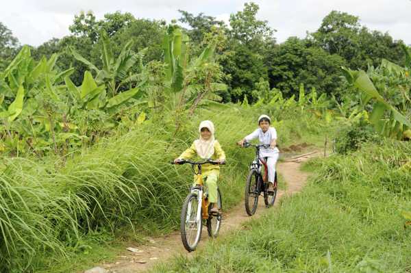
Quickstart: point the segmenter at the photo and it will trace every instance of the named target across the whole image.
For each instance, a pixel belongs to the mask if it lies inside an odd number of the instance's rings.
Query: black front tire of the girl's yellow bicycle
[[[196,203],[194,206],[192,206],[192,201],[196,200]],[[184,200],[184,204],[182,207],[182,214],[180,217],[180,233],[182,235],[182,242],[183,242],[183,246],[184,248],[186,248],[186,250],[188,252],[192,252],[195,250],[195,248],[197,248],[197,245],[200,242],[201,239],[201,229],[203,227],[203,223],[202,223],[202,219],[200,218],[200,221],[197,221],[197,213],[198,213],[198,198],[197,198],[197,194],[194,194],[192,192],[190,192],[190,194],[188,194],[188,196],[186,197],[186,200]],[[189,211],[190,206],[192,207],[196,207],[195,209],[195,213],[191,213],[192,211]],[[187,213],[190,212],[190,216],[187,217]],[[200,211],[201,213],[201,211]],[[186,229],[186,224],[191,224],[190,222],[187,222],[187,219],[191,219],[192,216],[195,215],[195,220],[196,220],[196,225],[197,225],[197,229],[196,229],[196,233],[195,233],[195,238],[193,240],[193,242],[191,242],[191,236],[188,236],[187,233],[187,229]],[[190,242],[189,242],[190,241]]]

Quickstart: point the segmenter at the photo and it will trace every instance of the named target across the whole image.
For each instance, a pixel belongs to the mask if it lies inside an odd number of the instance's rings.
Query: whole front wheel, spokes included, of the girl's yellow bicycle
[[[197,218],[198,213],[200,213],[199,219]],[[199,244],[201,238],[202,226],[199,199],[197,198],[197,194],[191,192],[184,201],[180,218],[182,242],[188,252],[194,251],[195,248],[197,248],[197,244]]]

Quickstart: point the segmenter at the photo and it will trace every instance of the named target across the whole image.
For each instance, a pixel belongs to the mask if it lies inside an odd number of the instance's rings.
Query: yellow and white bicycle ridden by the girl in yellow
[[[213,161],[211,159],[195,162],[184,159],[171,162],[171,164],[191,164],[192,172],[195,174],[196,185],[190,187],[190,193],[187,195],[186,200],[184,200],[180,217],[180,233],[182,235],[183,246],[188,252],[192,252],[197,248],[197,244],[199,244],[203,222],[206,222],[208,236],[217,237],[222,220],[221,209],[223,203],[219,188],[217,188],[217,207],[219,213],[209,213],[212,207],[209,206],[208,192],[204,191],[201,166],[204,164],[223,165],[225,162]]]

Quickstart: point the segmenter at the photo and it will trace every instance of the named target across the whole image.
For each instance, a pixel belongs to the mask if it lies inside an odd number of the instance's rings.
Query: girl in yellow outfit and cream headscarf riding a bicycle
[[[221,163],[225,161],[225,153],[220,143],[214,139],[214,124],[210,120],[203,120],[199,126],[199,133],[200,138],[195,140],[184,153],[174,159],[175,163],[182,159],[190,159],[195,154],[202,159],[213,159]],[[208,187],[208,202],[212,206],[210,212],[218,213],[219,209],[214,204],[217,203],[217,180],[220,175],[220,166],[205,164],[202,171],[205,185]]]

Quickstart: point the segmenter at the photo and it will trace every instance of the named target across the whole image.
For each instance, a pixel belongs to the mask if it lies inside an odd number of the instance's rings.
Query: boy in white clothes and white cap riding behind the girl
[[[250,133],[245,138],[238,142],[238,145],[244,146],[245,142],[249,142],[255,138],[260,140],[260,144],[270,145],[270,148],[261,148],[260,157],[266,158],[266,164],[269,172],[269,184],[272,188],[275,179],[275,164],[279,156],[279,150],[277,148],[277,131],[274,127],[270,127],[271,119],[269,116],[261,115],[258,118],[258,126],[260,128]]]

